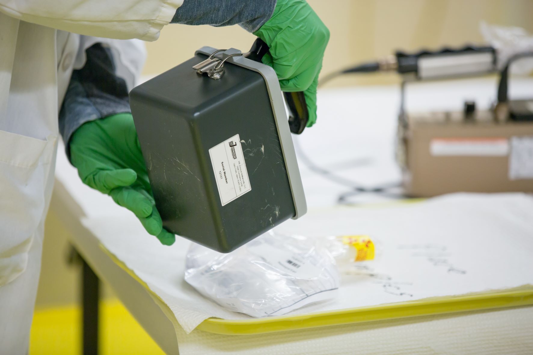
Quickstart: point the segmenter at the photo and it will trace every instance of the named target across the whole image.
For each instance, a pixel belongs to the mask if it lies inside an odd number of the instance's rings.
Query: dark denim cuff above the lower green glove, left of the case
[[[96,43],[86,49],[86,55],[84,67],[72,71],[59,112],[59,131],[67,156],[70,137],[83,123],[131,112],[126,81],[116,75],[110,49]]]

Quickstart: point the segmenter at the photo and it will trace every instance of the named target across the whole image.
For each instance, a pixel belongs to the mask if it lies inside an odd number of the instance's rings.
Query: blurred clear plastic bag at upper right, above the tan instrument
[[[533,52],[533,36],[520,27],[505,27],[480,23],[483,38],[496,49],[498,69],[503,69],[515,54]],[[533,57],[517,60],[511,66],[515,75],[529,75],[533,71]]]

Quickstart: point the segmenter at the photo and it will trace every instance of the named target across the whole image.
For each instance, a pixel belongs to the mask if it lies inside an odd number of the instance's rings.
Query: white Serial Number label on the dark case
[[[209,149],[209,156],[223,206],[252,191],[238,134]]]

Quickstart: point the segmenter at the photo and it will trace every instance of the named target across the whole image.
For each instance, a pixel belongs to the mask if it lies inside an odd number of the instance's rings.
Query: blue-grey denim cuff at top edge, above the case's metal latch
[[[254,32],[272,17],[274,7],[276,0],[184,0],[172,23],[239,24],[248,32]]]

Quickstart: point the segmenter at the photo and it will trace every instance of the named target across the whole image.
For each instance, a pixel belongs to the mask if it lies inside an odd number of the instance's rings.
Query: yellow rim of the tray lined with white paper
[[[115,263],[130,274],[135,280],[146,288],[165,311],[168,317],[174,318],[172,311],[159,296],[150,290],[148,285],[141,280],[124,262],[106,249],[102,244],[100,248],[115,261]],[[379,304],[377,306],[347,308],[328,312],[307,313],[296,316],[265,317],[243,320],[208,318],[200,323],[197,329],[201,331],[225,334],[247,335],[262,334],[296,329],[316,328],[329,325],[364,323],[367,321],[387,320],[397,318],[439,315],[495,309],[505,307],[528,306],[533,304],[533,286],[522,286],[505,291],[475,293],[463,296],[436,297],[418,301],[396,302]],[[171,319],[172,320],[172,319]],[[172,321],[175,326],[175,318]]]

